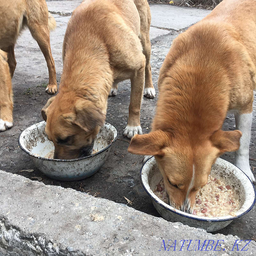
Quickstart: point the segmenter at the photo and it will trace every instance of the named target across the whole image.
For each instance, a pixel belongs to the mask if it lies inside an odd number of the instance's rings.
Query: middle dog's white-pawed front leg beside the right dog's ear
[[[124,136],[132,138],[135,134],[142,134],[139,120],[141,112],[141,99],[145,81],[145,59],[141,63],[139,70],[134,71],[131,77],[131,99],[129,105],[128,123],[123,133]]]

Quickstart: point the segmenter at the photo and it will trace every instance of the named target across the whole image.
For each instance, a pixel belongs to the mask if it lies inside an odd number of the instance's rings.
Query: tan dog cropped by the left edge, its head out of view
[[[55,94],[58,90],[49,36],[49,30],[56,27],[56,22],[48,13],[45,0],[0,0],[0,131],[13,126],[11,78],[16,68],[14,47],[25,27],[36,39],[47,62],[49,84],[46,92]]]

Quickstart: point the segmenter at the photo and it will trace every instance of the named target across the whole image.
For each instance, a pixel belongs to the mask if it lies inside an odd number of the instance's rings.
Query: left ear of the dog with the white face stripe
[[[136,155],[164,156],[165,144],[170,137],[164,131],[157,130],[147,134],[133,136],[128,152]]]

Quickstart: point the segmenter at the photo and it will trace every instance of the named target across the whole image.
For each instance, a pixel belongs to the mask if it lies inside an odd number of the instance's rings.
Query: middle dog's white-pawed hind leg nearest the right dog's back
[[[151,23],[151,13],[150,8],[146,0],[143,0],[143,4],[141,1],[134,1],[137,10],[139,12],[140,17],[140,35],[139,39],[141,40],[141,44],[143,47],[143,53],[146,57],[146,66],[145,66],[145,88],[144,88],[144,96],[147,98],[154,98],[156,96],[156,91],[152,83],[152,75],[151,75],[151,42],[149,39],[149,29]]]

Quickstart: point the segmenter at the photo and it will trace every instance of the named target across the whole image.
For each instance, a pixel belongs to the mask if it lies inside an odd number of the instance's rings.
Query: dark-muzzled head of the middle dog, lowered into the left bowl
[[[105,114],[96,105],[70,93],[50,98],[41,110],[45,133],[55,146],[55,159],[75,159],[92,153]]]

